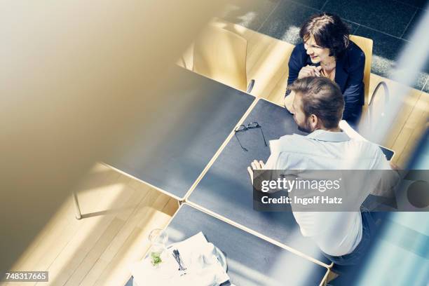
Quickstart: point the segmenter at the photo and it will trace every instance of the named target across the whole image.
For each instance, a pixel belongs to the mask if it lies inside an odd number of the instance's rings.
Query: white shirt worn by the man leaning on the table
[[[286,135],[270,142],[266,170],[390,170],[378,145],[350,139],[345,132],[315,130],[307,136]],[[372,190],[362,189],[363,203]],[[293,210],[293,208],[292,208]],[[332,256],[353,252],[362,239],[360,212],[293,212],[303,236]]]

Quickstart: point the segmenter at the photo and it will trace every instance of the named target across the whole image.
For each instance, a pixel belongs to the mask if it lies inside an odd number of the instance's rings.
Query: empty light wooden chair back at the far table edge
[[[250,93],[254,80],[247,86],[246,57],[247,41],[243,37],[209,26],[193,44],[192,70]]]

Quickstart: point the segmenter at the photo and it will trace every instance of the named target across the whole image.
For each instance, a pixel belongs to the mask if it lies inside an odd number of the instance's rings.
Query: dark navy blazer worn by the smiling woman
[[[307,64],[320,65],[311,62],[304,48],[304,43],[300,43],[295,46],[290,56],[288,86],[298,79],[299,71]],[[341,88],[341,93],[343,93],[346,102],[343,119],[352,124],[359,119],[362,113],[362,105],[365,104],[364,68],[365,53],[353,41],[350,41],[348,48],[336,59],[335,82]],[[289,93],[290,91],[287,90],[286,95]]]

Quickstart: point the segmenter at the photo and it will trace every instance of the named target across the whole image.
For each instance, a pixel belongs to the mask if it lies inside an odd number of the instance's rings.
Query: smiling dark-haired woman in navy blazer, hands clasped
[[[306,76],[325,76],[335,81],[346,102],[343,119],[356,125],[364,99],[365,54],[349,40],[348,27],[339,16],[311,16],[299,31],[304,43],[297,45],[289,60],[289,86]],[[293,95],[286,90],[285,107],[291,110]]]

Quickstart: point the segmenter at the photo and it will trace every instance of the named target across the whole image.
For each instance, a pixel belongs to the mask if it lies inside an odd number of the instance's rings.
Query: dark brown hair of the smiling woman
[[[322,48],[329,48],[329,55],[339,57],[348,47],[350,39],[348,26],[339,16],[330,13],[321,13],[311,16],[299,30],[299,36],[307,41],[311,36]]]

